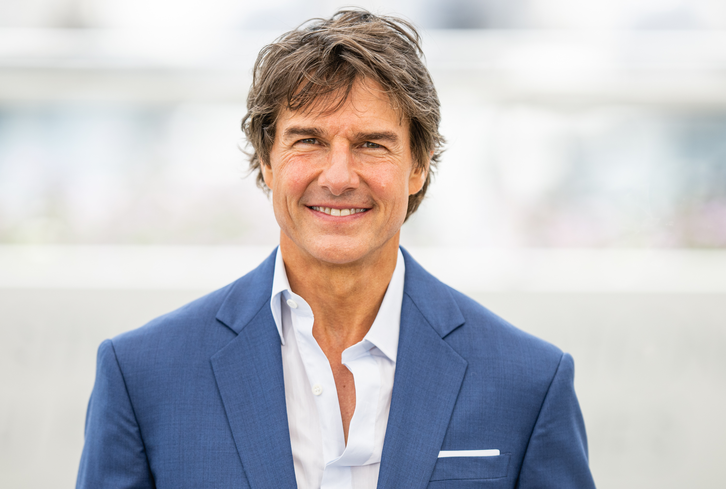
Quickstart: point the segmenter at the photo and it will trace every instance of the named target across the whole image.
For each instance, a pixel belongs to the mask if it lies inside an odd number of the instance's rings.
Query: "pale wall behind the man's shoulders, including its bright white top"
[[[725,252],[411,251],[573,354],[599,488],[722,487]],[[267,252],[0,247],[0,487],[73,487],[99,342]],[[461,266],[464,255],[472,266]]]

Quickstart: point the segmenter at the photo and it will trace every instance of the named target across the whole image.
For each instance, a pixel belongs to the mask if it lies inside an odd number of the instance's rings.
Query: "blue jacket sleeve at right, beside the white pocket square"
[[[595,489],[574,370],[572,357],[565,353],[534,424],[518,489]]]

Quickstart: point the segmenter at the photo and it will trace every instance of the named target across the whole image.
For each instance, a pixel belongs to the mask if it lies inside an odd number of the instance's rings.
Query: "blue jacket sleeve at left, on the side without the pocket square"
[[[76,489],[150,489],[154,480],[111,340],[98,349],[96,383]]]

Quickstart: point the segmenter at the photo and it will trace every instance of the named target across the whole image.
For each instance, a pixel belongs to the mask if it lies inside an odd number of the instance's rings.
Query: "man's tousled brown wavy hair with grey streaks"
[[[257,173],[257,185],[269,192],[261,165],[269,165],[281,108],[306,110],[320,96],[340,94],[325,111],[335,112],[356,81],[375,81],[401,120],[408,120],[414,165],[427,172],[421,190],[409,195],[408,219],[423,200],[445,142],[439,133],[439,97],[422,58],[413,25],[366,10],[341,10],[329,19],[308,20],[265,46],[255,62],[248,112],[242,119],[242,131],[253,149],[248,152],[250,173]]]

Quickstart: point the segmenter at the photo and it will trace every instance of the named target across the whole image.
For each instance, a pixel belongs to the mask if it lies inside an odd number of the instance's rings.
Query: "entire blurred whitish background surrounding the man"
[[[600,488],[724,487],[726,0],[358,5],[422,28],[449,140],[402,243],[574,354]],[[1,487],[73,487],[99,342],[277,244],[250,69],[338,7],[0,0]]]

